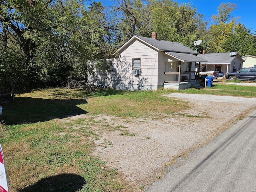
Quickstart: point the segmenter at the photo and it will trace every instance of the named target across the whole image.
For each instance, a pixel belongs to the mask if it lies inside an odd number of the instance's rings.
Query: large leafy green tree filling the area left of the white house
[[[107,57],[112,48],[113,30],[101,2],[0,0],[0,3],[1,48],[4,48],[1,54],[8,58],[8,52],[22,51],[23,60],[16,65],[25,66],[20,74],[24,79],[56,86],[70,75],[86,78],[92,72],[89,61]],[[13,50],[14,47],[17,49]],[[7,60],[1,64],[8,68]],[[13,71],[9,72],[15,78]]]

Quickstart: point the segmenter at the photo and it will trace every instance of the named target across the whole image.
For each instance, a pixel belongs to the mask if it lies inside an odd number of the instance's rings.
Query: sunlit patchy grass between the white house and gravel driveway
[[[125,95],[116,94],[96,98],[88,98],[87,104],[78,105],[89,114],[107,114],[117,117],[150,117],[156,114],[170,115],[188,108],[186,102],[163,98],[162,92],[135,91]]]

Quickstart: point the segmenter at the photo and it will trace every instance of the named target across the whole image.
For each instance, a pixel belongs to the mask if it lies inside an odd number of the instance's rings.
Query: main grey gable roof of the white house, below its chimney
[[[134,35],[130,40],[128,40],[128,42],[126,42],[123,46],[121,46],[113,55],[120,52],[133,40],[139,40],[140,42],[143,42],[144,44],[147,44],[149,47],[154,48],[158,51],[190,53],[190,54],[196,54],[196,55],[199,54],[198,52],[193,51],[192,49],[188,48],[187,46],[184,46],[181,43]]]

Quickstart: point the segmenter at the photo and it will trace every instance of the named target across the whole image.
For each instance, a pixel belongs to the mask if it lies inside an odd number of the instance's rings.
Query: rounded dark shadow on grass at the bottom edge
[[[84,178],[77,174],[60,174],[40,179],[18,192],[75,192],[82,189],[84,184]]]

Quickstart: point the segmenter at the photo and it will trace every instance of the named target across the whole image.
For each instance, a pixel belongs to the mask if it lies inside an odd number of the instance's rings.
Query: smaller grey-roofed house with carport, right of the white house
[[[203,50],[203,54],[199,54],[198,57],[207,60],[207,62],[201,62],[202,71],[219,71],[220,73],[238,71],[242,69],[244,62],[238,52],[205,53]]]

